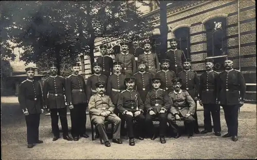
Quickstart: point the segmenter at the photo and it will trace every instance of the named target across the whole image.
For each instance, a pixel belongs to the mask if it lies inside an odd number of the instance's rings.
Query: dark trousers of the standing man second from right
[[[214,132],[221,132],[221,114],[217,104],[204,104],[204,123],[205,130],[212,131],[211,116]]]

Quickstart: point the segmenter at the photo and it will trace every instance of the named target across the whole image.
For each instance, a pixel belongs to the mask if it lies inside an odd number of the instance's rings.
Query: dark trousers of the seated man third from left
[[[156,113],[155,115],[150,115],[150,113],[146,113],[145,115],[145,123],[146,127],[148,129],[149,135],[153,135],[155,133],[154,125],[153,125],[153,119],[158,117],[159,120],[159,127],[160,127],[160,136],[164,136],[166,133],[166,127],[167,127],[167,112],[166,113]]]

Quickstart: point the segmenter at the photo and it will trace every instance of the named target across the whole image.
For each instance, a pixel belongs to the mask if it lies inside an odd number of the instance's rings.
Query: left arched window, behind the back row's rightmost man
[[[184,51],[186,58],[190,58],[190,28],[180,27],[173,33],[178,41],[177,48]]]

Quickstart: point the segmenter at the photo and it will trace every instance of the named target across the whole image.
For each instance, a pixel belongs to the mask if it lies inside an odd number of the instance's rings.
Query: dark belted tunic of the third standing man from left
[[[65,95],[68,105],[87,102],[85,80],[80,75],[71,74],[66,78]]]

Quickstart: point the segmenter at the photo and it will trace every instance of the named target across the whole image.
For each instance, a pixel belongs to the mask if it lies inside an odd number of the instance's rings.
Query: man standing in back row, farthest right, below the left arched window
[[[182,63],[185,62],[186,56],[183,50],[177,49],[176,39],[170,40],[171,49],[166,52],[167,59],[170,60],[170,70],[176,75],[183,70]]]

